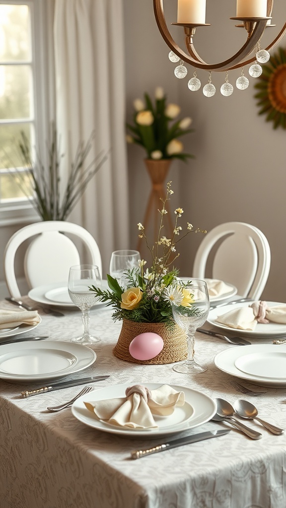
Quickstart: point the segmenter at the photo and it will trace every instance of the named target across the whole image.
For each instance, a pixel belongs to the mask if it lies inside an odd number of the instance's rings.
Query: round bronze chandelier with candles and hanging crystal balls
[[[265,49],[261,49],[260,43],[265,28],[275,26],[271,24],[273,0],[237,0],[237,16],[230,19],[240,22],[235,26],[245,28],[247,32],[246,42],[230,58],[221,62],[207,63],[199,56],[194,47],[196,30],[210,26],[209,23],[206,23],[206,0],[178,0],[177,23],[171,24],[184,28],[185,45],[188,53],[178,46],[168,30],[164,16],[163,0],[153,0],[153,5],[160,33],[171,50],[169,59],[173,62],[179,62],[175,69],[175,76],[179,79],[186,77],[187,68],[184,64],[189,63],[194,68],[194,73],[188,82],[188,87],[191,91],[196,91],[201,88],[201,81],[197,78],[196,69],[208,71],[209,82],[203,88],[203,93],[207,97],[212,97],[216,92],[211,79],[212,72],[225,72],[225,82],[220,88],[224,96],[230,96],[233,92],[233,86],[228,82],[228,71],[241,68],[241,76],[237,79],[236,86],[241,90],[247,88],[249,81],[244,76],[244,66],[254,62],[249,68],[249,75],[254,78],[259,77],[263,71],[260,63],[266,63],[269,60],[268,50],[273,49],[286,34],[285,23],[271,44]],[[255,50],[255,56],[250,57],[253,50]]]

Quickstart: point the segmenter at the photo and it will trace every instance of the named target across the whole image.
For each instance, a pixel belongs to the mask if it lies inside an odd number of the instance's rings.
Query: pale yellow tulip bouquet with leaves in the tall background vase
[[[145,93],[145,102],[135,99],[133,125],[127,123],[130,134],[126,139],[128,143],[136,143],[147,152],[147,158],[153,160],[179,158],[186,162],[188,157],[194,155],[184,153],[184,145],[180,138],[194,132],[188,129],[192,120],[190,117],[176,119],[181,112],[180,106],[168,103],[162,87],[155,90],[154,104],[148,93]]]

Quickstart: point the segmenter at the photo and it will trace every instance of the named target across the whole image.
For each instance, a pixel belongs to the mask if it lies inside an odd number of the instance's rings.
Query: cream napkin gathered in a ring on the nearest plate
[[[126,389],[126,397],[84,402],[93,411],[98,420],[131,427],[149,429],[158,427],[153,415],[169,416],[175,408],[185,403],[184,392],[176,392],[168,385],[156,390],[149,390],[142,385],[134,385]]]

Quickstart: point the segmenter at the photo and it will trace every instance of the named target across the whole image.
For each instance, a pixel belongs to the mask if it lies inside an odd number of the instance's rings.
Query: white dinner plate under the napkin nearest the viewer
[[[132,385],[142,383],[134,382]],[[162,385],[168,383],[144,383],[144,386],[150,390],[156,390]],[[72,405],[72,414],[80,422],[93,427],[97,430],[110,432],[113,434],[120,434],[123,436],[148,436],[156,437],[159,435],[175,434],[184,430],[192,429],[198,425],[208,422],[216,412],[216,403],[204,393],[198,392],[191,388],[178,385],[169,385],[177,392],[185,393],[185,404],[182,407],[176,407],[173,415],[168,417],[154,416],[154,420],[158,427],[155,429],[131,429],[117,427],[116,425],[109,425],[108,423],[99,421],[93,413],[87,409],[83,401],[95,401],[103,399],[111,399],[116,397],[125,397],[126,388],[130,387],[131,383],[123,385],[114,385],[106,388],[87,393],[79,397]]]

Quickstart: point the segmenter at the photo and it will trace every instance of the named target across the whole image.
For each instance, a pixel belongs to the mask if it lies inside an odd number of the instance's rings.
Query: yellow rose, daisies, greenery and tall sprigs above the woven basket
[[[95,296],[114,309],[113,319],[128,319],[137,323],[165,323],[167,326],[174,326],[172,304],[181,305],[188,309],[188,312],[197,311],[193,304],[193,295],[184,288],[184,283],[178,280],[179,272],[176,268],[170,270],[170,266],[178,258],[177,244],[185,238],[190,232],[206,233],[205,230],[193,229],[190,223],[187,223],[187,231],[182,232],[182,227],[178,225],[178,220],[182,217],[183,209],[175,210],[176,221],[171,238],[162,235],[164,227],[164,217],[167,213],[166,203],[170,196],[174,194],[171,189],[171,182],[167,183],[166,196],[162,201],[160,213],[160,225],[157,241],[152,247],[149,246],[144,226],[137,224],[139,237],[145,238],[147,247],[152,255],[152,267],[146,268],[146,261],[140,260],[138,268],[126,270],[125,284],[121,287],[118,280],[107,275],[110,290],[101,290],[100,288],[90,288]]]

